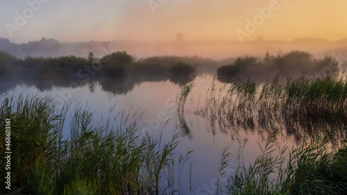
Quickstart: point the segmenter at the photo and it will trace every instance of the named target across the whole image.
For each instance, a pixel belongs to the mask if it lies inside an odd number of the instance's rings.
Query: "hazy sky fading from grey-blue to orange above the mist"
[[[347,38],[347,1],[0,1],[0,37],[15,43]]]

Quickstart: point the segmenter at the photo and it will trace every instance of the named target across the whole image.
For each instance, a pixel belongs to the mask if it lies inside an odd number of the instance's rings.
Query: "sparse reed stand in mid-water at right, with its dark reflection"
[[[237,79],[221,87],[219,95],[215,80],[204,108],[195,112],[213,134],[219,129],[234,139],[240,129],[257,130],[264,139],[276,133],[301,142],[306,135],[329,133],[336,143],[347,137],[347,83],[342,78],[289,78],[285,85],[278,77],[261,85]]]

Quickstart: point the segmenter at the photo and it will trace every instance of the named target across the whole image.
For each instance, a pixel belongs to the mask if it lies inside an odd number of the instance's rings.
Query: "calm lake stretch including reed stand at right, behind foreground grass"
[[[230,87],[211,75],[194,79],[193,85],[185,87],[182,83],[189,80],[173,83],[166,76],[98,78],[87,83],[66,79],[1,80],[0,94],[34,93],[57,98],[70,90],[69,100],[75,105],[87,104],[96,125],[105,125],[104,119],[113,115],[109,114],[110,108],[116,105],[116,113],[130,108],[144,112],[137,123],[139,133],[162,135],[164,142],[181,130],[178,150],[183,155],[194,150],[190,158],[194,164],[192,178],[183,177],[181,181],[188,184],[192,180],[192,190],[183,185],[187,194],[217,177],[221,153],[227,145],[234,160],[230,166],[237,167],[240,162],[254,162],[261,152],[258,143],[263,145],[267,135],[274,132],[282,138],[278,139],[280,144],[289,146],[294,143],[291,140],[301,142],[305,135],[329,132],[335,142],[347,137],[346,99],[343,103],[333,99],[326,102],[327,96],[311,96],[302,103],[298,95],[288,96],[288,88],[278,82],[240,82]],[[329,80],[325,81],[328,86]],[[183,173],[189,171],[189,166],[183,169]]]

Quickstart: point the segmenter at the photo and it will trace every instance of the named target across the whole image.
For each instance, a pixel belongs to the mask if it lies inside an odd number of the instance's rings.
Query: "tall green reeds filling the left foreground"
[[[178,135],[163,143],[161,137],[136,135],[141,114],[119,112],[120,123],[110,128],[91,126],[92,113],[75,108],[70,137],[62,129],[69,105],[57,114],[49,98],[2,97],[1,143],[6,118],[11,119],[12,186],[31,194],[162,194],[176,190],[173,183],[174,150]],[[1,147],[2,144],[1,144]],[[4,155],[1,149],[1,156]],[[1,163],[1,194],[5,164]],[[170,188],[171,187],[171,188]]]

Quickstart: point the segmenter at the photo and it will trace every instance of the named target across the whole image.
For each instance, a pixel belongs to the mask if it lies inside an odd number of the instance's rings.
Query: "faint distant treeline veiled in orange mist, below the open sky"
[[[178,33],[174,40],[156,41],[90,40],[87,42],[60,42],[53,38],[46,39],[42,37],[40,40],[14,43],[0,37],[0,50],[22,59],[26,56],[34,58],[40,56],[55,58],[69,55],[85,57],[89,52],[93,52],[95,56],[100,58],[113,51],[127,51],[137,56],[137,58],[198,55],[221,60],[223,58],[243,56],[244,53],[251,56],[262,56],[266,51],[275,53],[279,48],[286,52],[300,48],[322,58],[326,53],[332,56],[333,53],[330,52],[332,50],[346,50],[346,43],[347,39],[331,42],[314,37],[298,38],[293,41],[264,40],[262,38],[255,41],[245,41],[244,43],[239,42],[239,40],[184,40],[183,35],[181,36]],[[325,49],[330,49],[330,51],[324,51]]]

